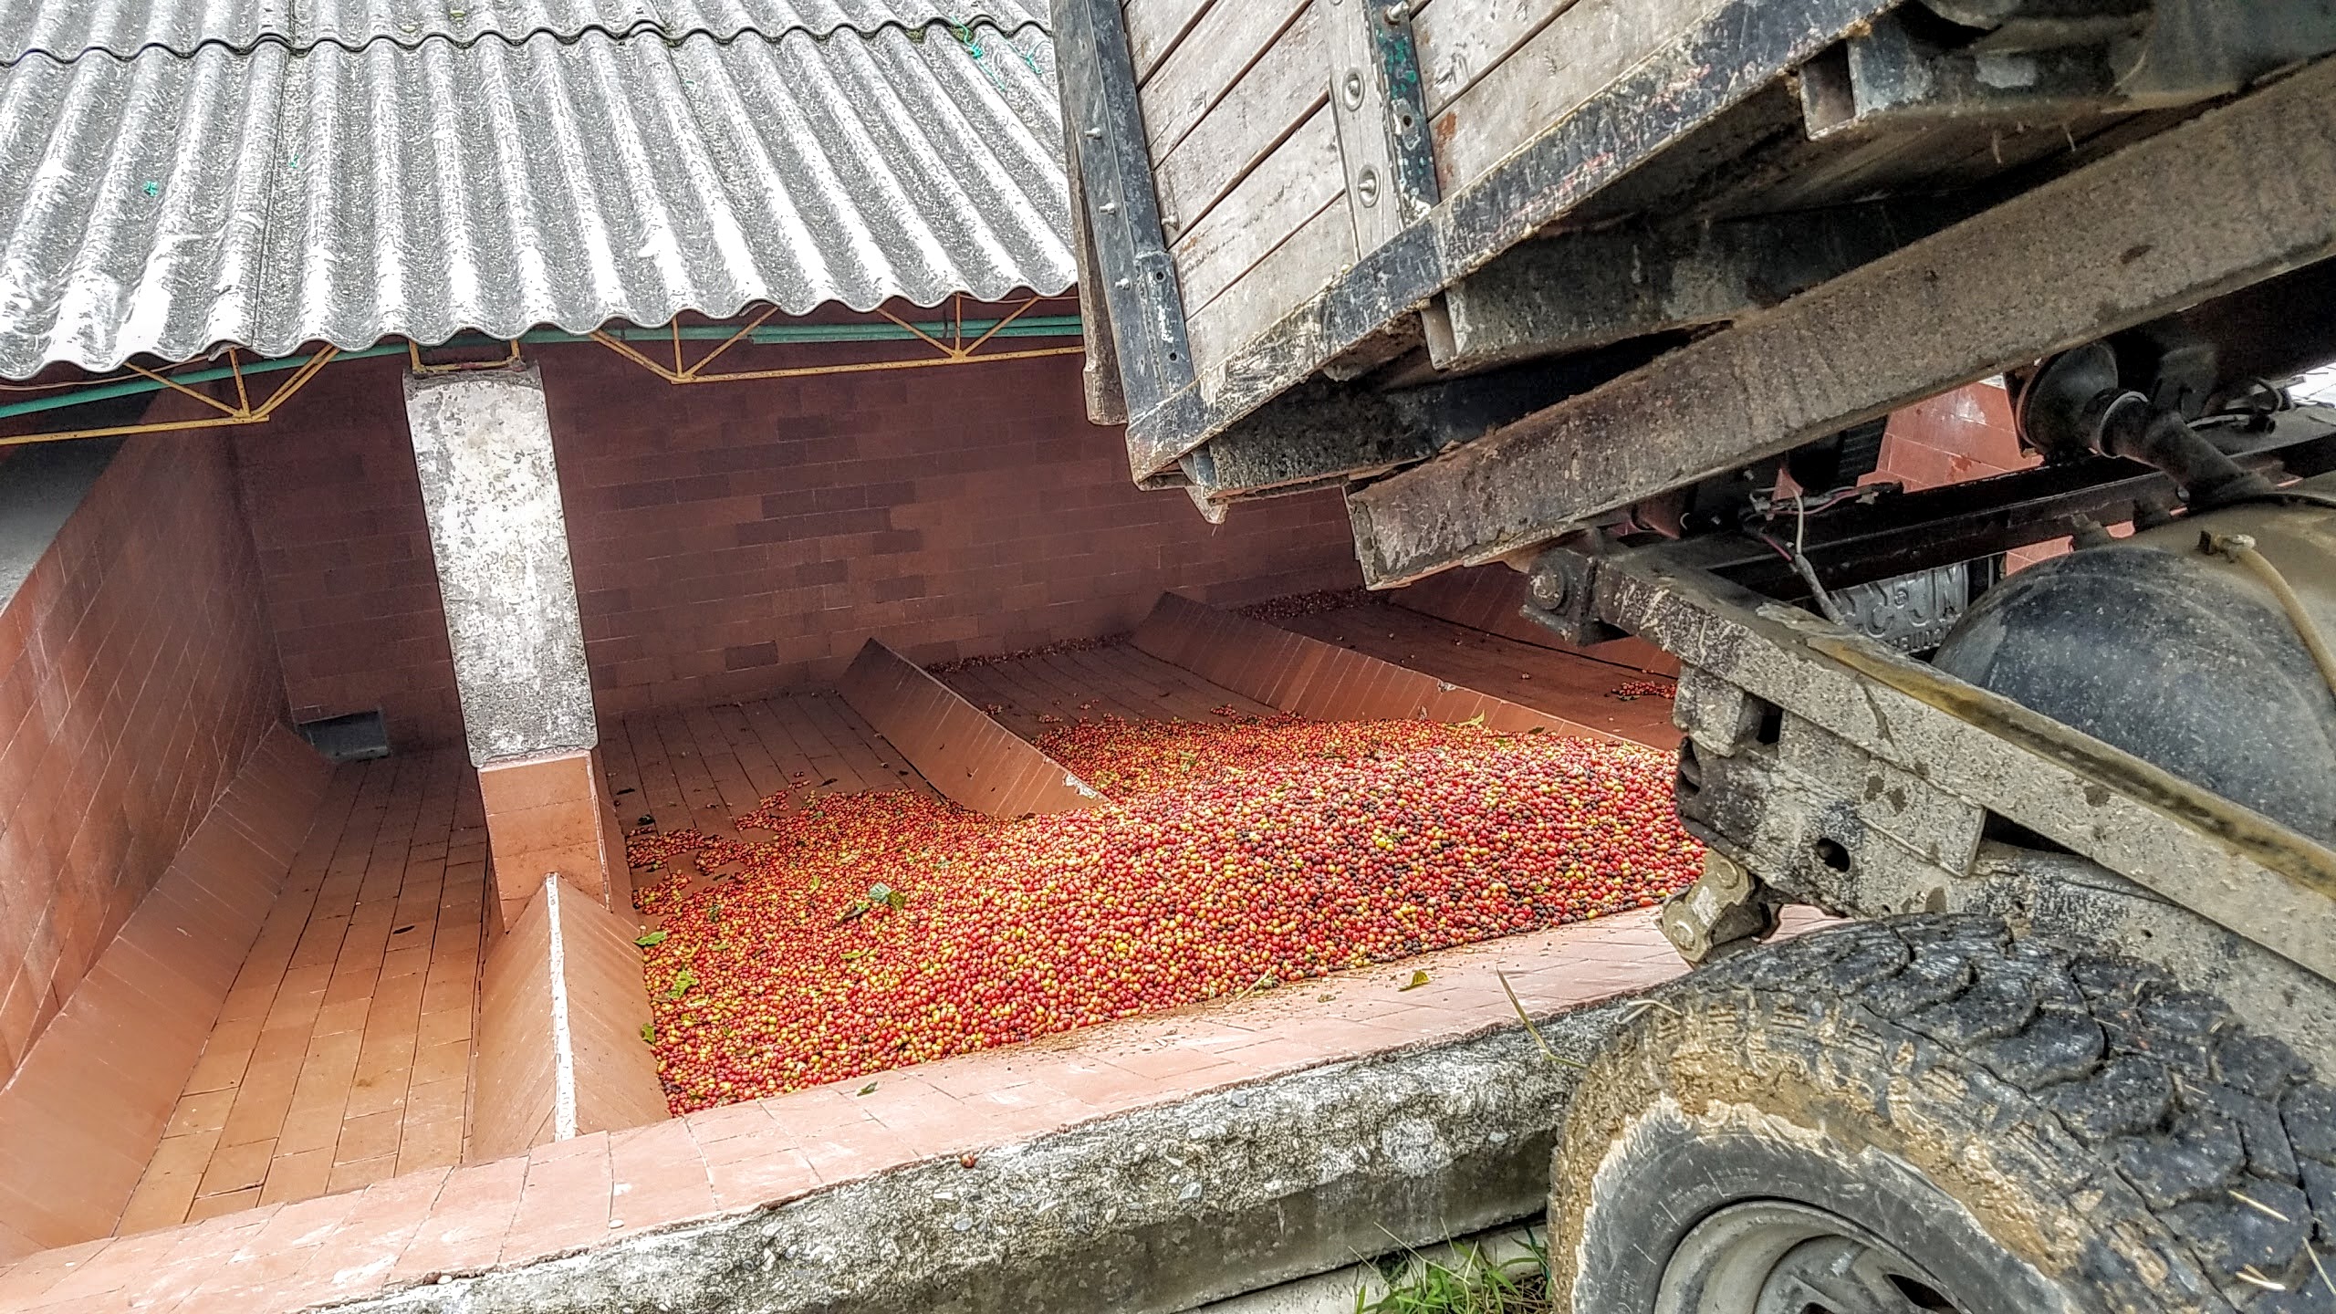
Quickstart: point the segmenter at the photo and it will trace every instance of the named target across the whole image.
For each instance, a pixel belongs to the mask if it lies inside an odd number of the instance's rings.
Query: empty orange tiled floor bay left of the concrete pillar
[[[121,1232],[458,1162],[484,891],[460,753],[341,767]]]

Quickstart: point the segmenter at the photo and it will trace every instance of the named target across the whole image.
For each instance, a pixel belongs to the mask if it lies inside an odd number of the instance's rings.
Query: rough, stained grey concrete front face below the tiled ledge
[[[1175,1314],[1539,1213],[1572,1085],[1511,1024],[341,1309]]]

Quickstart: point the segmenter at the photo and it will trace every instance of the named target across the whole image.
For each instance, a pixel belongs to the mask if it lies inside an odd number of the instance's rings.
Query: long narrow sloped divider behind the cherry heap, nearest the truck
[[[1135,648],[1236,694],[1315,720],[1483,718],[1493,729],[1544,729],[1614,744],[1617,736],[1509,699],[1467,690],[1353,648],[1161,594],[1135,627]]]

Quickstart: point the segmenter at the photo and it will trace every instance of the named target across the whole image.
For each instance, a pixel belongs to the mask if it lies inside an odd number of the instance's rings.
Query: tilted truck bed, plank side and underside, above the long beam
[[[1091,414],[1208,514],[1353,500],[2303,68],[2322,9],[1056,0]],[[1537,519],[1759,458],[1736,437]]]

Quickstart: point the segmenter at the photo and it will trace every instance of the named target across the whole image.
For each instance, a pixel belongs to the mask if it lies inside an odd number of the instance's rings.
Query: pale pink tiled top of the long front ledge
[[[1402,989],[1416,970],[1427,973],[1427,984]],[[769,1204],[923,1157],[979,1153],[1205,1090],[1502,1026],[1514,1010],[1495,973],[1509,977],[1528,1010],[1544,1015],[1680,970],[1652,912],[1560,926],[899,1069],[876,1078],[869,1094],[860,1094],[867,1080],[839,1083],[558,1141],[451,1174],[392,1176],[346,1197],[264,1204],[161,1237],[124,1237],[70,1256],[51,1251],[0,1272],[0,1302],[119,1305],[138,1293],[157,1312],[227,1300],[238,1314],[266,1314],[348,1300],[437,1272],[521,1263],[715,1209]],[[173,1242],[168,1251],[157,1249],[164,1242]],[[250,1279],[259,1272],[271,1279],[255,1288]]]

